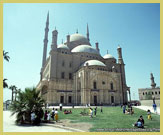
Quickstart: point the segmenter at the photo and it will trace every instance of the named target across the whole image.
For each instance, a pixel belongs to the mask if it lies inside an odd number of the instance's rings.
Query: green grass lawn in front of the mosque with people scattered
[[[93,108],[94,109],[94,108]],[[63,108],[64,110],[64,108]],[[70,109],[67,109],[70,110]],[[91,123],[93,127],[90,129],[91,132],[98,132],[97,129],[133,129],[132,126],[139,116],[142,115],[145,121],[145,129],[160,128],[160,115],[152,114],[152,120],[147,119],[147,112],[134,108],[133,115],[126,115],[122,113],[121,107],[103,107],[103,113],[100,112],[100,107],[97,109],[96,117],[90,118],[90,116],[81,116],[80,112],[83,108],[71,109],[72,114],[63,114],[59,111],[59,119],[69,119],[71,122],[87,122]],[[86,112],[89,110],[86,109]],[[131,130],[132,131],[132,130]],[[99,131],[102,132],[102,131]],[[108,131],[107,131],[108,132]]]

